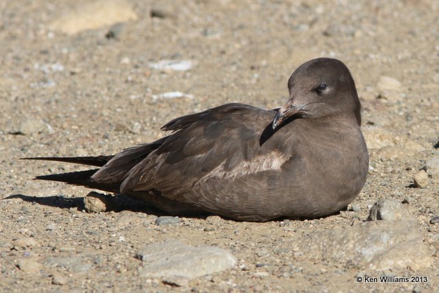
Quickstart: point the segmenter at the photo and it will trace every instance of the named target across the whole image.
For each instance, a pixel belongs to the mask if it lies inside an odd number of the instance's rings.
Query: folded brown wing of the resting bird
[[[264,162],[251,162],[270,152],[270,148],[259,143],[273,117],[274,111],[226,104],[174,119],[163,129],[175,132],[161,139],[155,150],[130,169],[124,176],[121,193],[154,189],[167,198],[184,201],[180,196],[206,176],[239,176],[235,170],[239,167],[245,168],[241,174],[259,172],[261,168],[257,165]],[[111,169],[99,170],[93,180],[109,178],[108,174],[115,173]]]

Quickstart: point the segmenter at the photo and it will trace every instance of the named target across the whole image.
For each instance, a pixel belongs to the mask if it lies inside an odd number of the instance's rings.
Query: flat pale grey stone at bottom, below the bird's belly
[[[178,240],[145,246],[137,258],[143,261],[139,275],[148,278],[182,277],[194,279],[232,268],[236,258],[228,251],[212,247],[192,247]]]

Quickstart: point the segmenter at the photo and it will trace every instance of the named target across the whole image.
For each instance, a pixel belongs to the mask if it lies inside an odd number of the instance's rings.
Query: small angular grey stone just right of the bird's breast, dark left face
[[[370,208],[367,220],[414,220],[414,217],[401,202],[382,199]]]

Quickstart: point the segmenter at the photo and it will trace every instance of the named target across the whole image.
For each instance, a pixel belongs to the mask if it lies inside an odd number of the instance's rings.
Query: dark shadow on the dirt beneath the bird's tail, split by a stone
[[[32,202],[35,204],[45,205],[48,207],[57,207],[59,209],[77,209],[78,211],[84,210],[84,198],[66,198],[64,196],[26,196],[24,194],[12,194],[8,197],[3,198],[3,200],[11,200],[14,198],[19,198],[25,202]],[[162,215],[163,212],[155,209],[150,204],[146,202],[141,202],[139,200],[134,200],[126,196],[115,195],[108,196],[111,200],[111,207],[107,211],[134,211],[134,212],[145,212],[154,215]]]

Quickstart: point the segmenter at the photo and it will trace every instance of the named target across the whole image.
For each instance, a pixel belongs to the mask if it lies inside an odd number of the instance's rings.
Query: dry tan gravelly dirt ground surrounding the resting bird
[[[438,292],[438,23],[436,0],[0,1],[0,291]],[[292,71],[320,56],[351,69],[370,152],[364,189],[336,215],[158,225],[120,197],[86,213],[88,189],[32,180],[83,167],[19,160],[115,154],[228,102],[281,106]],[[380,199],[404,213],[370,226]],[[147,274],[143,249],[166,240],[236,263]]]

